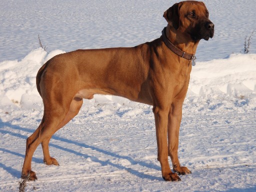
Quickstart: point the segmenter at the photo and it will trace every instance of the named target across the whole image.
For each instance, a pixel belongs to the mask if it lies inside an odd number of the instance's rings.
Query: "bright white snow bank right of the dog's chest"
[[[198,62],[192,69],[188,95],[255,98],[256,54],[231,54]]]

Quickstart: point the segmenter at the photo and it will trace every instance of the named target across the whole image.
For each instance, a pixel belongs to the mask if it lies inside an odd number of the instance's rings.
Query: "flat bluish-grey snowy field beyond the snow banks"
[[[215,24],[214,38],[201,41],[200,61],[243,50],[256,28],[254,0],[203,0]],[[22,59],[38,47],[48,51],[135,46],[158,38],[163,12],[175,0],[1,0],[0,61]],[[256,52],[256,37],[251,52]]]

